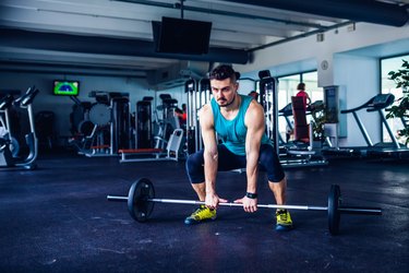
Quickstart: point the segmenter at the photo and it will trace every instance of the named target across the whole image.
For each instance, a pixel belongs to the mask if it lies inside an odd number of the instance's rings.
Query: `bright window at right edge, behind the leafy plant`
[[[392,93],[395,96],[395,99],[402,96],[402,90],[396,88],[396,83],[388,78],[389,71],[396,71],[400,69],[402,60],[409,60],[409,55],[387,58],[381,60],[381,88],[383,94]],[[404,128],[404,122],[400,119],[387,119],[387,122],[394,132],[395,136],[400,143],[405,143],[405,140],[400,140],[397,131]],[[383,141],[390,142],[389,134],[385,126],[383,126]]]

